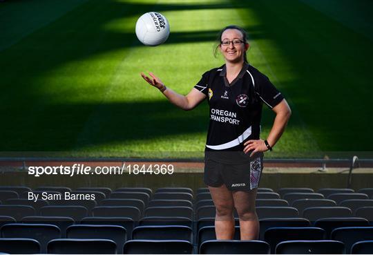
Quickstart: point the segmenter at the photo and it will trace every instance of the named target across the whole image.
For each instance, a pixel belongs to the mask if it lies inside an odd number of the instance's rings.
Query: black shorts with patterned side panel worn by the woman
[[[204,184],[220,187],[223,184],[231,191],[255,189],[259,185],[263,169],[263,154],[242,164],[220,163],[204,159]]]

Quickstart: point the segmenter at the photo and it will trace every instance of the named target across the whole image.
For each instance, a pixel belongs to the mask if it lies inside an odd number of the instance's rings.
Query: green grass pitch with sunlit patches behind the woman
[[[175,108],[139,73],[151,70],[188,93],[223,63],[214,40],[236,24],[249,32],[249,62],[293,110],[268,156],[372,155],[372,8],[367,0],[1,2],[0,151],[202,155],[207,103]],[[135,37],[137,18],[149,11],[171,24],[162,46]],[[273,118],[266,109],[262,138]]]

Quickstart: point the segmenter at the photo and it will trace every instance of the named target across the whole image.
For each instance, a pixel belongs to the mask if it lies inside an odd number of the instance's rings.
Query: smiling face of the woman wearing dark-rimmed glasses
[[[227,29],[222,33],[221,41],[244,41],[242,32],[237,29]],[[249,44],[240,42],[240,44],[234,44],[229,42],[228,46],[220,44],[220,52],[225,58],[226,62],[239,63],[243,62],[244,53],[249,48]]]

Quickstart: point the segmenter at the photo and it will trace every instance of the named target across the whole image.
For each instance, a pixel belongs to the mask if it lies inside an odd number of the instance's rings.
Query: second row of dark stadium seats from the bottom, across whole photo
[[[175,240],[193,244],[191,228],[183,226],[136,227],[132,236],[133,240]],[[350,251],[354,243],[361,240],[373,240],[372,236],[373,227],[341,227],[333,230],[330,240],[340,242],[343,249]],[[16,238],[18,240],[20,238],[35,240],[39,244],[39,250],[36,253],[50,252],[52,249],[49,245],[52,240],[64,242],[66,239],[107,239],[111,240],[115,245],[116,252],[120,254],[126,253],[122,247],[128,243],[126,230],[113,225],[72,225],[68,227],[67,238],[61,238],[59,228],[54,225],[9,224],[1,228],[0,252],[10,252],[9,243],[6,241],[16,240]],[[235,238],[239,240],[239,231],[236,231]],[[216,240],[214,227],[202,227],[198,232],[197,240],[199,249],[202,249],[203,243],[206,241]],[[276,252],[279,243],[289,240],[325,240],[325,230],[318,227],[274,227],[265,232],[265,243],[269,245],[271,253]],[[180,251],[176,253],[180,253]]]

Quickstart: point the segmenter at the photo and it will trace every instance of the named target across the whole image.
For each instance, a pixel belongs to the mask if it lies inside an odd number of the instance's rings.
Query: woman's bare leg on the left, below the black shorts
[[[218,240],[231,240],[234,236],[233,197],[225,185],[209,187],[216,207],[215,232]]]

